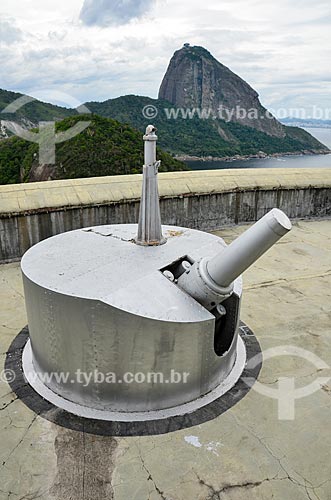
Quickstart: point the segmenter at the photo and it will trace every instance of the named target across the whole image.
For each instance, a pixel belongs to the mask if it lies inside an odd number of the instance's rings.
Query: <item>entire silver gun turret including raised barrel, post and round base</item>
[[[44,399],[85,418],[163,419],[229,391],[246,363],[241,274],[291,229],[278,209],[229,246],[161,225],[155,127],[144,141],[138,224],[59,234],[21,263],[25,376]]]

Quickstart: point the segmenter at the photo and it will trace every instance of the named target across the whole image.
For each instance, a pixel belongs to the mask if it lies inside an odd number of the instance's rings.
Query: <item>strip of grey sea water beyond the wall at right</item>
[[[331,149],[331,129],[306,129]],[[251,158],[233,161],[187,161],[192,170],[217,170],[225,168],[331,168],[331,154],[295,155],[279,158]]]

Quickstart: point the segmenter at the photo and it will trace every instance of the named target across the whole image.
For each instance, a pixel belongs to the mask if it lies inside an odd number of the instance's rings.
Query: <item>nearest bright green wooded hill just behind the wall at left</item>
[[[144,162],[142,135],[129,125],[96,115],[78,115],[56,124],[63,132],[79,121],[91,121],[81,134],[57,144],[54,179],[136,174]],[[169,154],[158,151],[161,172],[185,170],[187,167]],[[0,184],[28,182],[35,179],[38,166],[38,144],[16,137],[0,141]]]

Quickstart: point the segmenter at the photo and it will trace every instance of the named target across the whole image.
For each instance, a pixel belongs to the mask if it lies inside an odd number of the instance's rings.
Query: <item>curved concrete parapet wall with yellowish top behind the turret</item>
[[[138,221],[141,175],[0,186],[0,262],[81,227]],[[331,216],[331,168],[233,169],[159,175],[162,223],[216,230],[274,207],[290,218]]]

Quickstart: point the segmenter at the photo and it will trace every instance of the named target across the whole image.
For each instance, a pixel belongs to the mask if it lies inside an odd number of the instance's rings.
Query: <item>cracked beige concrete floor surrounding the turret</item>
[[[228,242],[243,228],[219,234]],[[18,264],[0,266],[0,371],[26,325]],[[331,364],[331,221],[300,221],[245,275],[242,319],[263,350],[295,346]],[[303,387],[331,369],[283,356],[259,381]],[[0,382],[0,500],[330,500],[331,379],[279,420],[252,390],[217,419],[171,434],[99,437],[50,423]]]

